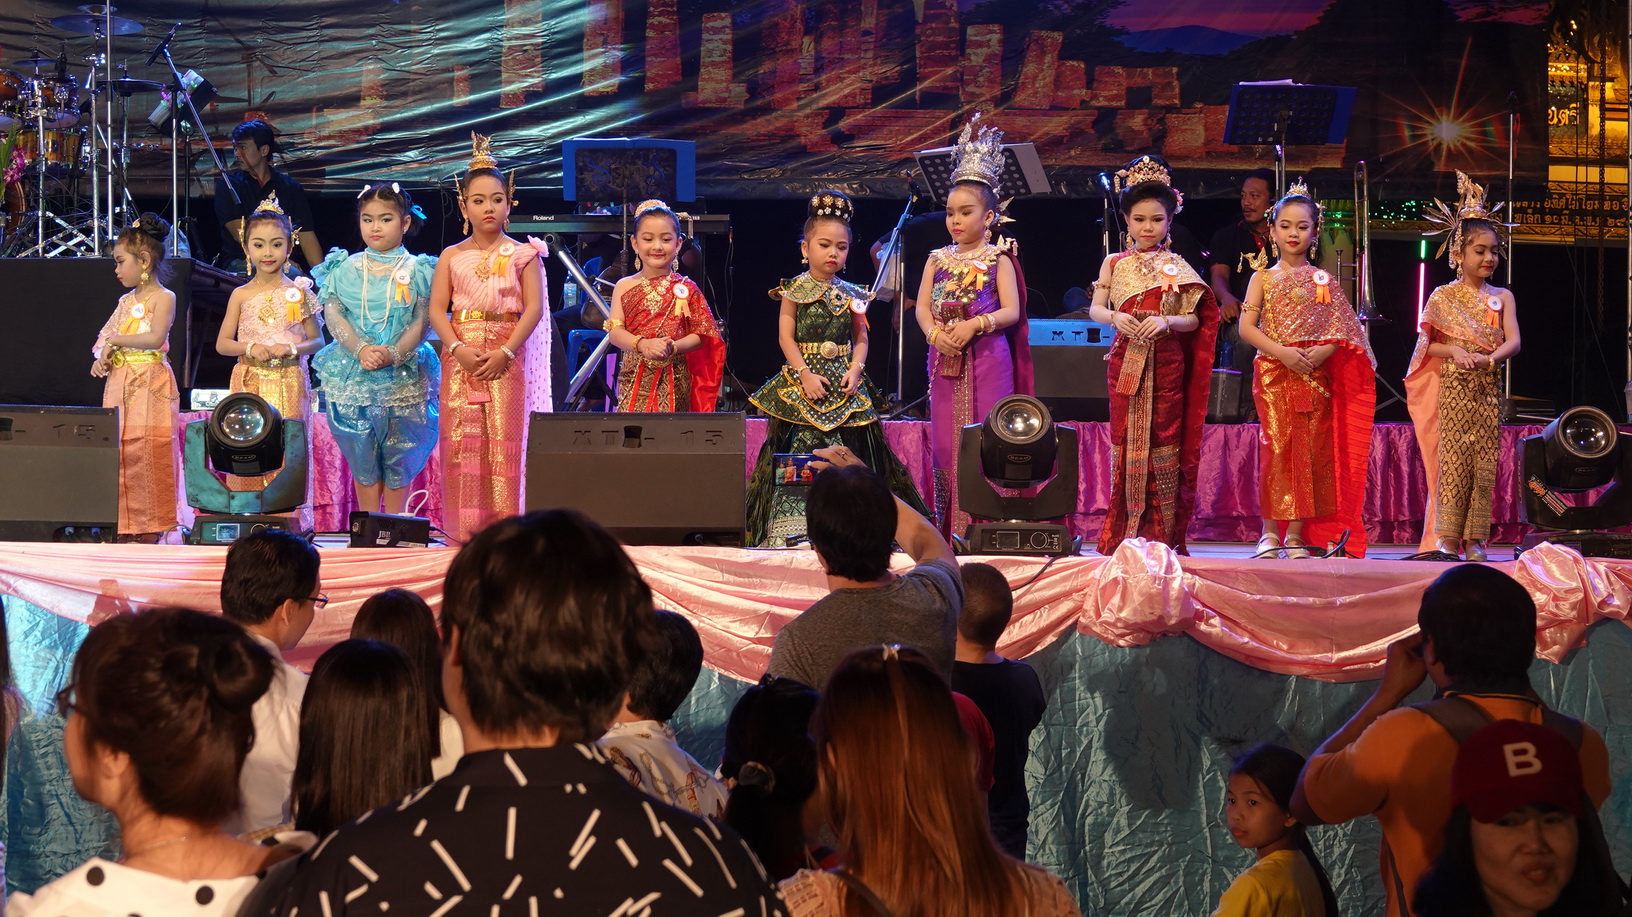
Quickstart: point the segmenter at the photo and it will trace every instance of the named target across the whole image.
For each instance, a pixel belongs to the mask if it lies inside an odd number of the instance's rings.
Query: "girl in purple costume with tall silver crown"
[[[919,284],[917,323],[929,339],[929,426],[935,468],[935,521],[961,535],[958,434],[1002,398],[1031,395],[1025,279],[1010,238],[996,245],[1004,135],[976,114],[958,137],[958,168],[947,194],[951,245],[930,253]]]

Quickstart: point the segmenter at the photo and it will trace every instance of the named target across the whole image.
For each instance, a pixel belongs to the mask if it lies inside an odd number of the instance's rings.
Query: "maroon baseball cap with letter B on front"
[[[1467,806],[1482,822],[1534,803],[1581,817],[1585,796],[1581,759],[1570,741],[1523,720],[1498,720],[1474,733],[1451,767],[1451,804]]]

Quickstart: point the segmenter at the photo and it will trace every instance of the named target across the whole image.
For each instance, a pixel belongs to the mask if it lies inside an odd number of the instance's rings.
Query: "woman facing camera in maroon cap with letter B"
[[[1444,847],[1413,910],[1619,914],[1619,879],[1575,747],[1559,731],[1498,720],[1457,749]]]

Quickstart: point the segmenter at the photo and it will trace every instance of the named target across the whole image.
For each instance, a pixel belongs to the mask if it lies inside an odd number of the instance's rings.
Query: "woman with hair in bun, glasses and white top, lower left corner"
[[[240,840],[238,769],[273,658],[228,620],[186,609],[91,628],[57,695],[73,790],[119,822],[124,855],[18,893],[10,914],[228,915],[256,873],[295,853]]]

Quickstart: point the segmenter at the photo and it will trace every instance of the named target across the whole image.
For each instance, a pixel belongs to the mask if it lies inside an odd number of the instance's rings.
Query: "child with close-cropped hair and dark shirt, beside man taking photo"
[[[951,664],[951,690],[966,695],[992,728],[992,791],[986,811],[997,845],[1025,860],[1031,800],[1025,788],[1025,762],[1031,731],[1043,721],[1048,700],[1031,666],[997,654],[997,640],[1009,627],[1015,599],[1009,581],[989,563],[965,563],[963,614],[958,615],[958,658]]]

